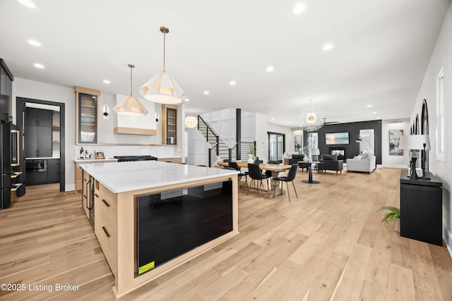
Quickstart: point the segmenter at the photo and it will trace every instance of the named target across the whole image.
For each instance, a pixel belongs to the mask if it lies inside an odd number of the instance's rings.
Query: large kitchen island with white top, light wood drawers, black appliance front
[[[81,168],[117,297],[238,234],[237,171],[161,161]]]

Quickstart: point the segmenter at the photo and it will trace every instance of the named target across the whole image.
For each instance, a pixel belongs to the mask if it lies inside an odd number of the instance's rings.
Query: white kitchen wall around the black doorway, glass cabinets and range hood
[[[64,135],[66,145],[64,146],[66,160],[65,183],[66,191],[75,189],[75,172],[74,162],[79,156],[79,146],[76,146],[76,94],[74,87],[62,87],[57,85],[49,85],[43,82],[35,82],[32,80],[24,80],[22,78],[14,78],[13,81],[13,123],[16,123],[16,97],[25,97],[30,99],[46,100],[49,102],[61,102],[65,104],[65,128]],[[114,135],[114,118],[115,112],[112,107],[115,105],[114,95],[100,94],[99,97],[99,128],[98,141],[100,145],[85,146],[83,149],[88,149],[88,152],[102,150],[105,155],[110,157],[114,155],[134,155],[134,154],[150,154],[160,158],[180,157],[184,153],[184,131],[182,114],[184,113],[184,105],[179,106],[179,143],[174,146],[162,146],[162,124],[161,121],[157,124],[156,136],[141,136],[141,135]],[[109,113],[108,118],[105,118],[105,106]],[[161,119],[161,106],[155,104],[155,111],[159,113]],[[102,145],[103,144],[103,145]],[[129,144],[130,146],[124,146]],[[157,146],[153,146],[155,144]],[[184,160],[184,158],[182,158]]]

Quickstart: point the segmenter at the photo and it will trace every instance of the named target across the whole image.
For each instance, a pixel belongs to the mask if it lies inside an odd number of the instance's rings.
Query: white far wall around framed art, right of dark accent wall
[[[395,121],[401,121],[396,122]],[[408,168],[408,151],[403,150],[403,156],[389,155],[389,131],[403,130],[403,135],[410,135],[410,118],[386,120],[381,122],[381,164],[383,167]]]

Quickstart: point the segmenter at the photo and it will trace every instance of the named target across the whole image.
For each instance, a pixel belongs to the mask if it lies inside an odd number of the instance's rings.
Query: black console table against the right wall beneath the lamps
[[[429,180],[410,180],[400,172],[400,235],[442,245],[442,183],[428,173]]]

